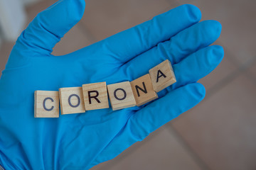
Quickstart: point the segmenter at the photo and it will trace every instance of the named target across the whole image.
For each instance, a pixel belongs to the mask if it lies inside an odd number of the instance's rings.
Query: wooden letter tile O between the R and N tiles
[[[107,85],[107,91],[113,111],[136,105],[132,86],[129,81]]]

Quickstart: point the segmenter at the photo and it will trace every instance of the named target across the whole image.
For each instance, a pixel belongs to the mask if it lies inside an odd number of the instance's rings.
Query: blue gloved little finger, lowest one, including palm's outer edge
[[[102,150],[93,164],[100,164],[117,157],[134,142],[143,140],[161,125],[196,106],[205,94],[206,91],[202,84],[188,84],[137,111],[119,134]]]

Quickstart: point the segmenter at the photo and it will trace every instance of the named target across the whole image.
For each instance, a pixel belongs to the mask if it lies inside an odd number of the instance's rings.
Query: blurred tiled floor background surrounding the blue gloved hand
[[[55,1],[0,0],[1,71],[17,36],[37,13]],[[206,86],[206,98],[198,106],[92,170],[256,169],[255,0],[86,3],[82,21],[56,45],[53,55],[73,52],[181,4],[198,6],[202,21],[220,21],[223,31],[215,44],[225,49],[223,62],[200,80]]]

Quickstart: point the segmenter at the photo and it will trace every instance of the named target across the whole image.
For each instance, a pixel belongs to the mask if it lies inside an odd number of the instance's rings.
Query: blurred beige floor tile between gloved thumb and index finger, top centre
[[[167,0],[87,0],[82,22],[102,40],[173,8]]]

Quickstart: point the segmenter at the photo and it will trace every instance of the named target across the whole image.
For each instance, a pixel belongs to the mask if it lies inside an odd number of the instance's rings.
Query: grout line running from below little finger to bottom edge
[[[201,169],[210,170],[210,167],[206,164],[206,162],[204,162],[203,159],[201,159],[201,157],[199,157],[198,154],[196,154],[196,152],[193,151],[193,149],[188,145],[188,142],[186,142],[186,140],[183,139],[181,134],[177,132],[177,130],[171,125],[171,123],[169,123],[169,125],[166,126],[166,129],[169,130],[169,132],[172,135],[174,135],[176,140],[178,140],[178,142],[182,145],[183,149],[185,149],[186,152],[188,152],[189,156],[191,156],[193,161],[196,162],[196,164],[199,167],[201,167]]]

